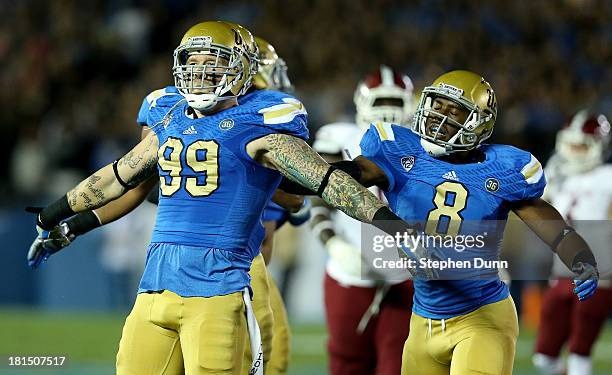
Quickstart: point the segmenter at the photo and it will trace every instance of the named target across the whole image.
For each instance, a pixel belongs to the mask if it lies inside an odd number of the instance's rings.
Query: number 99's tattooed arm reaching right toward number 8
[[[330,165],[303,140],[286,135],[271,134],[267,142],[266,159],[285,177],[317,191]],[[347,215],[370,223],[376,211],[385,206],[374,194],[347,173],[334,171],[323,191],[322,198],[330,206]]]

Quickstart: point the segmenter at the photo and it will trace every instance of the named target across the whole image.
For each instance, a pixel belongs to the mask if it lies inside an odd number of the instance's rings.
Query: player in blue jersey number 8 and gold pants
[[[404,375],[512,373],[518,335],[514,303],[497,267],[475,270],[476,257],[499,259],[510,211],[574,272],[579,300],[595,293],[593,253],[540,199],[545,186],[540,163],[520,149],[483,143],[496,118],[491,85],[478,74],[452,71],[423,89],[413,129],[372,124],[361,141],[362,156],[340,166],[365,186],[383,188],[398,216],[425,224],[423,235],[456,240],[480,231],[486,236],[472,249],[452,243],[428,249],[428,260],[472,260],[473,269],[414,280]],[[487,228],[493,230],[482,231]],[[423,268],[428,267],[442,273],[434,262]]]

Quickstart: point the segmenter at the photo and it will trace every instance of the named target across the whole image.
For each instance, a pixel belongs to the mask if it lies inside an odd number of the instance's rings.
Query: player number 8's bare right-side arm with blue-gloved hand
[[[543,199],[521,201],[515,204],[513,211],[576,274],[574,293],[578,298],[591,297],[597,288],[599,273],[595,256],[586,241]]]

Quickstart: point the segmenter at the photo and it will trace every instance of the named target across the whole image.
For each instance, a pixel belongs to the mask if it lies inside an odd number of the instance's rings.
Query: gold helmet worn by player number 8
[[[436,98],[451,100],[467,111],[461,124],[433,109]],[[429,119],[435,119],[436,131],[428,130]],[[480,75],[455,70],[438,77],[423,89],[415,113],[414,131],[421,137],[423,148],[433,156],[468,151],[478,147],[493,133],[497,119],[497,99],[491,85]],[[458,131],[448,140],[441,139],[441,130],[449,124]]]

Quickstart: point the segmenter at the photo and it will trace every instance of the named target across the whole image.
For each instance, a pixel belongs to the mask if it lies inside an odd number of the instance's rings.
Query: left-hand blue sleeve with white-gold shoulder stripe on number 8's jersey
[[[395,176],[394,169],[391,163],[392,155],[390,148],[386,147],[386,142],[394,142],[395,133],[391,124],[377,123],[370,125],[370,128],[361,138],[359,147],[361,148],[361,155],[371,160],[380,169],[385,172],[387,180],[389,181],[389,187],[387,191],[391,191],[395,187]]]

